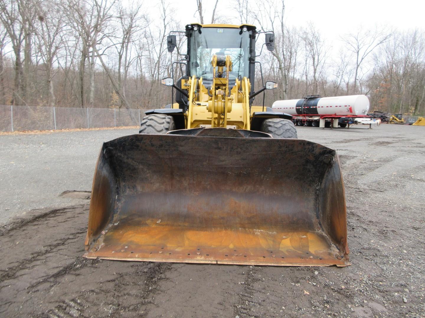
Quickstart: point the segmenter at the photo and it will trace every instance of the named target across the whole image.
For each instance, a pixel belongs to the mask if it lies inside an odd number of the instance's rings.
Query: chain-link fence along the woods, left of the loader
[[[0,131],[140,126],[142,109],[0,105]]]

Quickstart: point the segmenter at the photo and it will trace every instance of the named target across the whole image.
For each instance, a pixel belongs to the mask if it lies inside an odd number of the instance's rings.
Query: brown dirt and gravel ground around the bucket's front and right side
[[[89,195],[68,189],[85,204],[0,230],[0,316],[425,317],[425,127],[297,130],[340,155],[351,266],[84,259]]]

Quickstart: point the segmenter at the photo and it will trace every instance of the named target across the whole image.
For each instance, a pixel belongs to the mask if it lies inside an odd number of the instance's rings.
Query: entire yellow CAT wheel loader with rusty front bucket
[[[88,258],[255,265],[348,265],[334,150],[297,139],[292,116],[252,101],[252,25],[186,26],[170,105],[140,133],[105,142],[94,175]],[[273,50],[274,34],[266,33]],[[176,36],[167,38],[168,50]]]

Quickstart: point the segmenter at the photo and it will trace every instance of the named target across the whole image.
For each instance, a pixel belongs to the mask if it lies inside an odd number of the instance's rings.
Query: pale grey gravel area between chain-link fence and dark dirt
[[[137,129],[0,136],[0,226],[32,209],[60,208],[82,201],[63,191],[91,191],[102,143]]]

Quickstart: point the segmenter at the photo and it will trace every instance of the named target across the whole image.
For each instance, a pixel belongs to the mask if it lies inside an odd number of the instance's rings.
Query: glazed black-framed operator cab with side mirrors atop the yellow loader
[[[251,86],[249,96],[255,96],[255,63],[259,63],[255,62],[255,39],[257,34],[259,33],[257,33],[255,26],[248,24],[201,25],[199,23],[192,23],[186,25],[184,35],[187,37],[187,53],[183,60],[174,62],[177,64],[186,64],[186,70],[177,82],[180,83],[181,79],[187,80],[192,76],[196,76],[198,79],[202,78],[202,84],[207,88],[208,95],[210,95],[210,88],[214,77],[211,65],[213,56],[217,56],[217,64],[219,64],[220,60],[222,61],[222,65],[218,65],[222,67],[221,73],[216,73],[216,77],[218,78],[226,77],[227,70],[224,66],[224,61],[226,56],[230,56],[232,70],[229,72],[229,89],[231,90],[235,86],[236,79],[242,81],[246,77]],[[266,33],[266,42],[264,45],[266,45],[268,50],[274,50],[273,33]],[[173,52],[176,46],[176,36],[169,35],[167,37],[168,52]],[[178,52],[178,54],[181,53]],[[261,78],[263,78],[262,75]],[[263,89],[258,92],[260,91],[262,92]],[[176,102],[179,104],[179,108],[184,110],[187,110],[188,107],[186,95],[181,92],[181,89],[177,89]],[[251,102],[252,99],[250,98]]]

